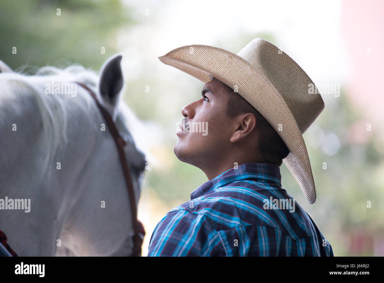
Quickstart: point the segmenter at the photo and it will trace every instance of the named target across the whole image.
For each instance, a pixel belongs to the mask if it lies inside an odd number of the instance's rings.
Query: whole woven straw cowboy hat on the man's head
[[[290,150],[283,159],[306,200],[316,190],[304,132],[324,109],[324,101],[294,60],[264,39],[254,39],[238,54],[209,45],[186,45],[159,57],[204,83],[215,77],[232,87],[265,119]],[[314,91],[310,91],[310,89]]]

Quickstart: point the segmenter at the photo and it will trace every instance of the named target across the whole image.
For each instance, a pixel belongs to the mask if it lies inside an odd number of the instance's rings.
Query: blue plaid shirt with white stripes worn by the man
[[[169,211],[152,233],[148,256],[333,256],[316,224],[293,201],[281,188],[280,167],[242,164]]]

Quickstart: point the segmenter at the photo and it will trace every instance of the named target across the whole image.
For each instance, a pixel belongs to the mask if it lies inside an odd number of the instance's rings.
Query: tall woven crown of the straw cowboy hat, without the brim
[[[237,55],[273,84],[303,134],[324,109],[324,101],[310,77],[285,52],[264,39],[253,39]]]

